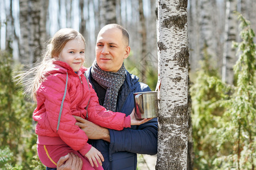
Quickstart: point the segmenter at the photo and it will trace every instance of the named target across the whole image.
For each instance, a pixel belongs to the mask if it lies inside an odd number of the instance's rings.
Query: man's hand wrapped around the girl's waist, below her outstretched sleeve
[[[109,130],[102,128],[101,126],[93,124],[84,118],[79,116],[73,116],[78,122],[76,125],[83,130],[89,139],[103,139],[104,141],[110,142]]]

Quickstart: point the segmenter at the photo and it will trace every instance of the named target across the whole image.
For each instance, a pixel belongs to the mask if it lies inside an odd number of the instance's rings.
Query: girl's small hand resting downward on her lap
[[[85,157],[88,158],[90,164],[93,166],[93,163],[98,167],[98,163],[102,166],[102,162],[104,162],[104,158],[100,151],[98,151],[95,147],[92,146],[90,150],[85,154]],[[102,161],[102,162],[101,162]]]

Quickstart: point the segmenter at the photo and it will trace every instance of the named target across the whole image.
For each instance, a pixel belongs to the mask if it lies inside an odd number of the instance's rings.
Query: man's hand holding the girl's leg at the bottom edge
[[[82,159],[79,156],[68,153],[66,156],[62,156],[57,162],[57,170],[81,170]]]

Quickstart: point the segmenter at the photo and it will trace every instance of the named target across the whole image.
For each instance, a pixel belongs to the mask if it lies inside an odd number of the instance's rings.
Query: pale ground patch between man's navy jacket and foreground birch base
[[[141,155],[138,156],[138,170],[155,170],[156,155]]]

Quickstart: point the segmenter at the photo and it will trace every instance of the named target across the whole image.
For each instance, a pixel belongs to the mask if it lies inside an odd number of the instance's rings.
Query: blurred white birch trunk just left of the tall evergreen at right
[[[233,84],[234,71],[233,66],[237,61],[236,49],[232,48],[232,42],[236,41],[237,36],[237,18],[233,14],[237,10],[236,0],[226,1],[226,22],[225,22],[225,42],[222,61],[222,81]]]

